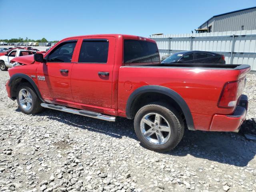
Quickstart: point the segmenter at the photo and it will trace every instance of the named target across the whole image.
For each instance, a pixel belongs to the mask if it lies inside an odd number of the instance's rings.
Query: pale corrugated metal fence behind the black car
[[[160,56],[181,50],[223,54],[226,64],[249,64],[256,71],[256,30],[152,35]]]

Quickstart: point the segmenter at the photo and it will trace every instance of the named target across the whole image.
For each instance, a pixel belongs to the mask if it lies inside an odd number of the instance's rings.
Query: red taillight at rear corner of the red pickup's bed
[[[220,94],[218,107],[233,108],[238,99],[238,81],[227,82]]]

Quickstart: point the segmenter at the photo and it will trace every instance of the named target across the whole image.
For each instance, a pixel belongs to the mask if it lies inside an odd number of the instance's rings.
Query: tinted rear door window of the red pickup
[[[84,40],[82,42],[79,63],[106,63],[108,61],[108,40]]]

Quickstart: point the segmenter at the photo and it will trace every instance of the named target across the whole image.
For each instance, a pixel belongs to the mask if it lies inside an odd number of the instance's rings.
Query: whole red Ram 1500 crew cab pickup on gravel
[[[249,65],[161,64],[150,38],[76,36],[12,62],[20,65],[8,70],[6,90],[22,112],[134,119],[138,139],[155,151],[173,149],[185,128],[238,132],[246,118]]]

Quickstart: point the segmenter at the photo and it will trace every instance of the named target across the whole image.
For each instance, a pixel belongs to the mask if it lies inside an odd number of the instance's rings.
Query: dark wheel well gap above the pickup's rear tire
[[[146,92],[138,95],[134,101],[132,102],[131,106],[131,118],[133,119],[140,108],[143,106],[152,103],[152,102],[164,102],[168,106],[175,108],[181,118],[184,120],[186,124],[186,119],[182,109],[180,108],[179,104],[171,97],[157,92]]]

